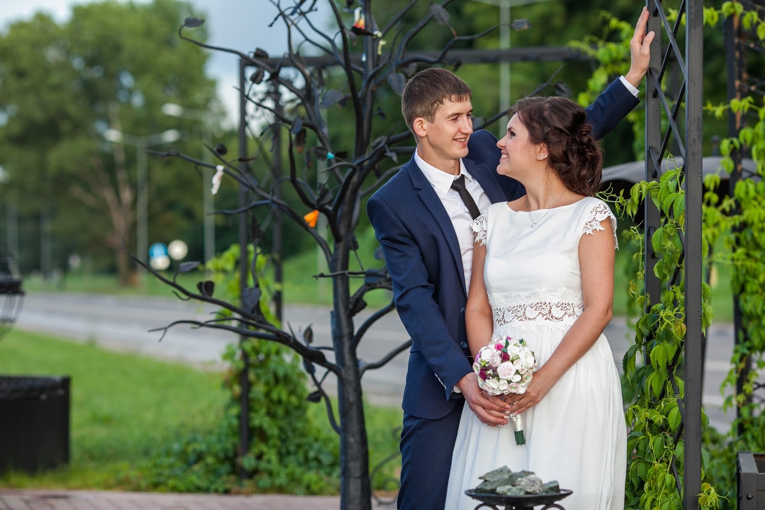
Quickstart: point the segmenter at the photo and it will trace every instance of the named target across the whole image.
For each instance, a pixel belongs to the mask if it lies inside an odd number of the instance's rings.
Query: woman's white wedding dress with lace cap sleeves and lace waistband
[[[529,213],[495,203],[474,220],[473,229],[476,239],[487,245],[483,278],[493,310],[493,335],[526,339],[541,366],[584,310],[581,236],[602,230],[601,221],[607,218],[616,232],[616,218],[594,197],[532,214],[539,222],[534,228]],[[489,427],[464,406],[446,510],[476,508],[479,502],[464,491],[480,483],[478,476],[500,466],[533,471],[543,482],[558,480],[562,489],[573,491],[559,502],[567,510],[623,508],[627,427],[619,375],[605,336],[522,419],[526,444],[518,446],[512,422]]]

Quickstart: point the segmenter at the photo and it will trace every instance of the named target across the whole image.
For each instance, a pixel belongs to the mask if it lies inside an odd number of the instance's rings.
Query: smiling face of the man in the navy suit
[[[467,101],[449,101],[438,107],[432,122],[422,117],[413,124],[418,135],[422,159],[448,171],[457,160],[467,156],[467,140],[473,132],[473,105]]]

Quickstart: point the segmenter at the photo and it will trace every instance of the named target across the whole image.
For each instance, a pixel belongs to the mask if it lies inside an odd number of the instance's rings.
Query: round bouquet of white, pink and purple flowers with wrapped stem
[[[478,385],[489,395],[525,393],[533,372],[537,369],[536,356],[524,339],[505,336],[493,339],[481,347],[473,362]],[[525,444],[523,422],[519,414],[510,414],[516,430],[516,444]]]

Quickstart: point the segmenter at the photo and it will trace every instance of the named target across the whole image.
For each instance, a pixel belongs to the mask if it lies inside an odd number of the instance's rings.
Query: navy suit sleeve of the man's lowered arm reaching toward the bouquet
[[[375,236],[385,254],[393,282],[393,299],[415,349],[422,352],[431,370],[452,397],[457,382],[472,371],[470,362],[449,331],[435,300],[435,287],[412,232],[389,204],[372,197],[366,204]]]

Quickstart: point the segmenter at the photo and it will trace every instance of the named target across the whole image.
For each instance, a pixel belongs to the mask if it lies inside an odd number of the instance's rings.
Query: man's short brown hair
[[[444,101],[469,101],[473,93],[456,74],[441,67],[431,67],[412,76],[401,94],[401,112],[409,131],[422,117],[433,122],[435,112]],[[414,133],[412,131],[412,133]]]

